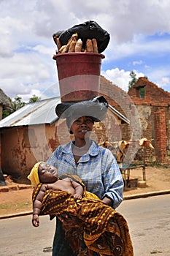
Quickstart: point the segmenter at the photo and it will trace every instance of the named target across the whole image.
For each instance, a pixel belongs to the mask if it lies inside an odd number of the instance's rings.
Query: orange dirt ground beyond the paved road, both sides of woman
[[[130,178],[138,178],[142,180],[142,168],[131,170]],[[133,187],[124,191],[124,197],[127,195],[136,195],[147,192],[155,192],[170,189],[170,167],[146,167],[146,184],[145,188]],[[11,180],[7,185],[18,185]],[[28,186],[29,187],[29,186]],[[32,203],[31,195],[33,189],[25,188],[20,190],[12,190],[9,192],[0,192],[0,217],[20,212],[31,212]]]

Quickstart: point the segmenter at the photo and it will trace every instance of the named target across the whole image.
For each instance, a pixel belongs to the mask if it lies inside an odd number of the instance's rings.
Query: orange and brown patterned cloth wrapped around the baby
[[[133,256],[131,237],[124,217],[112,207],[102,203],[96,195],[87,192],[78,176],[62,175],[59,178],[66,177],[82,184],[84,188],[82,199],[76,201],[69,192],[49,189],[45,192],[40,215],[50,214],[50,219],[56,216],[58,219],[63,219],[62,214],[76,217],[77,221],[72,226],[63,226],[66,236],[77,239],[79,233],[83,233],[88,249],[98,252],[101,256]],[[40,183],[34,188],[33,203],[41,186]],[[73,244],[77,246],[74,239]]]

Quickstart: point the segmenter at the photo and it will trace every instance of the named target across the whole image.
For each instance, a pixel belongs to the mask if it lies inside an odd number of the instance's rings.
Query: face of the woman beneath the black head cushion
[[[85,135],[92,131],[93,124],[94,121],[90,116],[82,116],[72,123],[70,129],[74,133],[75,138],[85,138]]]

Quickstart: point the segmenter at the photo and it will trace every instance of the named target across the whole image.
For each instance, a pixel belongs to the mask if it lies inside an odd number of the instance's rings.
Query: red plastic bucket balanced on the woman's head
[[[61,102],[93,99],[100,91],[100,53],[61,53],[55,55]]]

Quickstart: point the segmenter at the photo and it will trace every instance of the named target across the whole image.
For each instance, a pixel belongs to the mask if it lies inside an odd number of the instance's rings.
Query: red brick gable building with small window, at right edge
[[[158,162],[169,162],[170,93],[147,78],[139,78],[128,91],[139,112],[143,137],[152,139]]]

